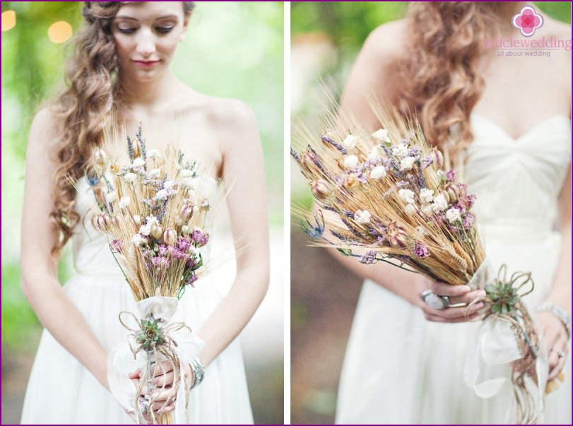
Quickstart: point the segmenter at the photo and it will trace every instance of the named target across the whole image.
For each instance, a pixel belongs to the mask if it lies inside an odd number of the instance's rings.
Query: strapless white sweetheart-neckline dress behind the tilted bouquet
[[[534,310],[553,282],[561,237],[557,197],[571,154],[571,121],[555,116],[514,139],[473,115],[465,180],[494,270],[531,271]],[[564,303],[571,303],[564,300]],[[366,281],[353,321],[338,390],[340,424],[500,424],[510,393],[482,399],[464,384],[466,354],[479,324],[437,324],[382,286]],[[508,369],[509,372],[509,369]],[[567,381],[545,398],[543,422],[571,424]],[[510,417],[509,422],[513,422]]]

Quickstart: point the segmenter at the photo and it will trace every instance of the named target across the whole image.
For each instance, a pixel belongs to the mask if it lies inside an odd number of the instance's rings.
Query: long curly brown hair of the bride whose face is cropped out
[[[473,137],[469,116],[484,88],[478,60],[499,25],[496,7],[495,2],[413,1],[408,11],[406,102],[427,140],[454,160]],[[450,129],[456,129],[455,143],[449,143]]]

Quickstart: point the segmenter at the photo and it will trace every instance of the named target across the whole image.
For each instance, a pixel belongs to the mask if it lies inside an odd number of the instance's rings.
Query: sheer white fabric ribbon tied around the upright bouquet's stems
[[[137,302],[139,311],[139,318],[142,319],[155,319],[158,325],[163,329],[163,334],[167,340],[166,343],[161,345],[160,350],[155,350],[153,356],[159,358],[158,355],[163,353],[167,355],[165,359],[178,360],[179,386],[177,389],[177,403],[175,403],[175,411],[173,420],[175,424],[189,424],[189,415],[187,413],[188,403],[188,386],[184,382],[184,366],[190,364],[194,358],[199,355],[203,348],[204,342],[191,332],[191,329],[182,322],[170,322],[172,317],[177,311],[177,298],[176,297],[149,297]],[[131,316],[136,322],[136,329],[127,326],[122,319],[122,316]],[[129,374],[140,369],[147,371],[148,366],[148,352],[146,350],[137,350],[138,343],[136,343],[134,335],[139,329],[138,317],[132,312],[122,312],[119,314],[120,321],[131,331],[129,340],[125,343],[118,345],[112,349],[107,356],[107,381],[110,385],[110,391],[114,398],[122,405],[127,413],[133,415],[139,422],[143,422],[141,418],[141,408],[137,405],[138,390],[134,382],[129,379]],[[160,360],[159,360],[160,362]],[[145,380],[142,377],[142,381]],[[174,384],[175,386],[175,384]]]

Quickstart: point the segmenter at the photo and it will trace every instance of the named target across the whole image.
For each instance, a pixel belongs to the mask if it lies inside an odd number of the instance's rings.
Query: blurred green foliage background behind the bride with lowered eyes
[[[83,21],[82,6],[83,2],[77,1],[2,2],[3,13],[16,13],[16,25],[9,30],[4,30],[4,15],[2,18],[3,372],[4,355],[18,358],[33,353],[41,329],[20,291],[25,150],[35,112],[64,88],[66,57],[72,47],[71,42],[51,42],[47,30],[64,20],[75,32]],[[254,110],[266,161],[269,221],[274,229],[283,225],[283,33],[283,2],[199,1],[186,41],[179,45],[172,64],[175,75],[191,87],[208,95],[240,99]],[[69,254],[64,259],[69,259]],[[61,282],[70,273],[69,260],[62,261]],[[277,379],[280,401],[268,404],[264,413],[255,413],[256,421],[283,422],[282,371],[281,364]],[[4,423],[4,410],[2,418]]]

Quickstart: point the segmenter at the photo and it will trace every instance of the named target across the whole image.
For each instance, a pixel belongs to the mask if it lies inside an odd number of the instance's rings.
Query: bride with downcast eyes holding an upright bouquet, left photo
[[[127,134],[135,134],[140,123],[144,135],[150,124],[177,128],[179,138],[170,142],[201,164],[213,165],[213,172],[204,177],[213,191],[219,179],[230,182],[226,201],[232,234],[246,240],[237,256],[235,281],[228,294],[220,295],[216,283],[208,277],[200,280],[179,302],[177,319],[205,342],[193,367],[186,368],[193,387],[191,422],[252,422],[235,337],[268,286],[262,150],[246,105],[203,95],[170,70],[193,8],[189,1],[85,2],[86,26],[76,40],[69,88],[33,121],[26,155],[22,288],[45,331],[23,423],[133,422],[108,391],[107,353],[125,341],[117,315],[133,311],[134,301],[105,237],[86,220],[93,200],[86,190],[85,166],[93,148],[102,143],[102,116],[116,117]],[[165,148],[149,142],[148,149]],[[123,142],[114,148],[123,152]],[[79,182],[77,190],[69,177]],[[69,240],[76,274],[61,287],[57,259]],[[204,380],[195,386],[203,369]],[[136,372],[130,378],[139,379]],[[165,387],[172,380],[169,372],[158,377]],[[158,392],[151,410],[165,402],[165,392]],[[164,410],[173,410],[175,404]]]

